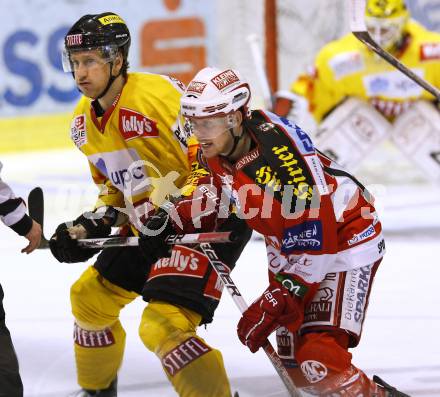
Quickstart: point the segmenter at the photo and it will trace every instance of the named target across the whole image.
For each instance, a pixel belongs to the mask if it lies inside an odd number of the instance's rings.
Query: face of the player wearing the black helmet
[[[104,91],[110,77],[110,67],[98,50],[72,53],[72,70],[78,89],[89,98],[96,98]]]

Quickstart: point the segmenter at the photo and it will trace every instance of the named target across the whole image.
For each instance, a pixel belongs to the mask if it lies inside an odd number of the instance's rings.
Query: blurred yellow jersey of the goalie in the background
[[[397,58],[416,74],[440,87],[440,34],[409,21]],[[322,48],[310,73],[299,76],[291,91],[304,96],[317,122],[346,97],[367,99],[392,119],[411,101],[433,96],[379,58],[351,33]]]

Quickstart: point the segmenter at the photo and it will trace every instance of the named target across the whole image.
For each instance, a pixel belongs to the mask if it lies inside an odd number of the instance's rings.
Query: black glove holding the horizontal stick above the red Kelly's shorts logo
[[[159,210],[147,219],[139,235],[139,248],[142,255],[151,263],[170,256],[172,247],[165,242],[165,238],[175,233],[168,213]]]

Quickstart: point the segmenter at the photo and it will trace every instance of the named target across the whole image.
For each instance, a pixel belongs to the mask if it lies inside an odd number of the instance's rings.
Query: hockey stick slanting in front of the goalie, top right
[[[403,63],[394,58],[389,52],[380,47],[370,36],[365,25],[365,0],[348,0],[349,1],[349,20],[350,30],[353,35],[364,43],[368,48],[374,51],[381,58],[385,59],[390,65],[400,70],[404,75],[424,88],[426,91],[434,95],[440,100],[440,90],[429,84],[426,80],[419,77],[411,69],[407,68]]]

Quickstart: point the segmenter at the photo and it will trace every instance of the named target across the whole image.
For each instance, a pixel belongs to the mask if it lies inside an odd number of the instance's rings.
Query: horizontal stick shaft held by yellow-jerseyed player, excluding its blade
[[[235,241],[233,232],[171,234],[165,239],[167,244],[230,243],[233,241]],[[139,237],[79,239],[78,244],[83,248],[137,247]]]

